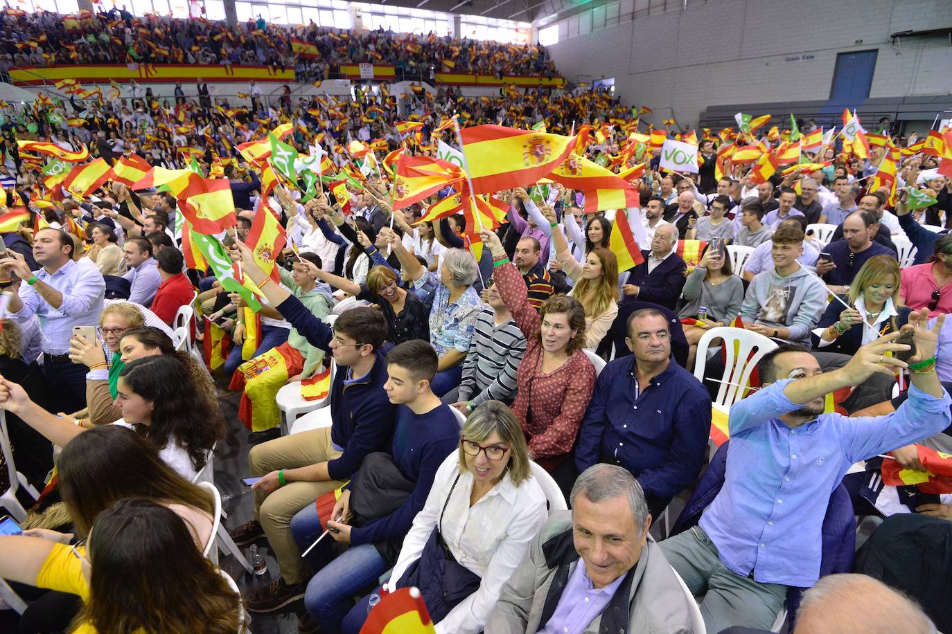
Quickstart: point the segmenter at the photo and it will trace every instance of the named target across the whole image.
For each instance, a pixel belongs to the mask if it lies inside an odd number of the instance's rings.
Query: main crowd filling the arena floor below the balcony
[[[398,104],[358,91],[271,111],[201,91],[132,97],[73,99],[85,123],[69,135],[53,104],[4,124],[0,183],[30,220],[3,233],[0,406],[17,470],[43,490],[22,534],[0,536],[0,578],[29,598],[21,631],[234,632],[246,610],[303,599],[300,631],[356,633],[406,586],[446,634],[769,631],[787,608],[798,632],[950,625],[934,570],[949,563],[952,497],[880,471],[893,460],[928,479],[923,451],[952,452],[938,154],[907,152],[895,188],[873,188],[889,145],[908,142],[883,137],[855,161],[838,141],[828,165],[824,148],[760,182],[740,162],[718,174],[724,132],[704,131],[698,174],[665,172],[660,144],[631,147],[633,113],[599,92]],[[453,111],[640,162],[639,202],[595,210],[593,192],[526,183],[495,192],[505,221],[477,229],[463,213],[421,220],[460,185],[400,208],[386,169],[357,178],[351,142],[433,155],[455,144]],[[422,126],[398,131],[398,112]],[[235,148],[278,122],[351,175],[344,191],[263,184]],[[85,200],[60,184],[41,195],[50,163],[18,140],[228,179],[234,226],[216,240],[260,310],[214,266],[187,265],[172,191],[113,179]],[[249,246],[264,218],[287,236],[273,272]],[[620,233],[638,248],[621,251]],[[201,318],[173,331],[184,306]],[[704,343],[714,327],[765,346],[728,414],[713,400],[739,375]],[[323,423],[282,435],[278,391],[321,385],[328,405],[305,418]],[[213,485],[196,484],[239,432],[221,391],[241,394],[257,478],[230,536],[277,562],[241,596],[206,557]],[[718,415],[729,439],[711,454]],[[856,516],[880,526],[854,555]]]

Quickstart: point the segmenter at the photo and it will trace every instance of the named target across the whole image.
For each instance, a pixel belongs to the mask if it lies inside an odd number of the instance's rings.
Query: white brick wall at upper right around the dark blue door
[[[666,12],[641,11],[643,2],[631,20],[622,0],[614,26],[601,28],[604,17],[593,21],[592,11],[564,20],[549,52],[570,80],[614,77],[626,103],[654,109],[655,125],[668,108],[680,124],[696,125],[707,106],[827,99],[837,53],[850,50],[879,51],[870,97],[952,92],[947,38],[895,47],[889,38],[949,26],[949,0],[692,0]],[[804,53],[813,59],[784,61]]]

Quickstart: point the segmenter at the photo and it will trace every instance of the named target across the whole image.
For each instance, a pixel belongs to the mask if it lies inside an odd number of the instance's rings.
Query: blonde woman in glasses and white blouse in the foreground
[[[388,590],[420,588],[437,634],[483,631],[503,586],[548,516],[522,428],[505,405],[490,400],[476,408],[460,438],[460,450],[437,471],[387,583]],[[433,564],[443,558],[451,559],[441,580]],[[360,631],[369,598],[347,614],[345,633]]]

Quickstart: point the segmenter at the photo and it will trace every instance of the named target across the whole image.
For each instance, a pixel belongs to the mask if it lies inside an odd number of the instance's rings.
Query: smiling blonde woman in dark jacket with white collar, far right
[[[829,303],[813,331],[813,349],[855,355],[861,346],[902,328],[912,309],[899,305],[899,279],[896,259],[867,259],[849,285],[846,303],[853,308]]]

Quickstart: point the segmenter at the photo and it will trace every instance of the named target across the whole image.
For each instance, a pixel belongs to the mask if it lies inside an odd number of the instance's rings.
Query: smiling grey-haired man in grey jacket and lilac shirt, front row
[[[693,632],[693,600],[648,534],[631,473],[594,465],[570,497],[572,510],[549,515],[503,587],[486,634]]]

